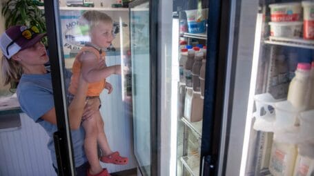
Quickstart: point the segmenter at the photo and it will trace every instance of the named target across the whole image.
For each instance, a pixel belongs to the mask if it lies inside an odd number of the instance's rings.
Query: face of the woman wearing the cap
[[[40,41],[30,48],[19,51],[17,55],[24,66],[43,65],[49,61],[46,48]]]

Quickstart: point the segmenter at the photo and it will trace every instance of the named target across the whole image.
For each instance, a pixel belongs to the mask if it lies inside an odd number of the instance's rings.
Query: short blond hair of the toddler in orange
[[[95,26],[98,25],[99,22],[104,22],[104,23],[112,23],[111,17],[108,16],[108,14],[104,12],[99,12],[97,10],[88,10],[84,12],[81,15],[81,19],[79,20],[79,24],[81,26],[86,26],[88,25],[88,29],[95,28]],[[85,31],[87,32],[87,31]],[[83,32],[83,33],[85,33]]]

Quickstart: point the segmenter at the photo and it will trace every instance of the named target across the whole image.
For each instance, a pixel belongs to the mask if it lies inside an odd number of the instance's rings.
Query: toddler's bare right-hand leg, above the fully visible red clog
[[[104,131],[104,121],[101,118],[101,115],[99,113],[99,116],[97,116],[97,128],[98,128],[98,136],[97,136],[97,141],[98,144],[104,153],[104,155],[109,155],[112,153],[112,150],[108,144],[107,136]]]

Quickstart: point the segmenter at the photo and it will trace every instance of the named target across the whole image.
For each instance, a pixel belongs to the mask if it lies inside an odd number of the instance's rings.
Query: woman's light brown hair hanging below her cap
[[[23,69],[18,61],[14,59],[7,59],[4,55],[1,58],[1,73],[3,77],[3,84],[10,84],[11,81],[19,81]]]

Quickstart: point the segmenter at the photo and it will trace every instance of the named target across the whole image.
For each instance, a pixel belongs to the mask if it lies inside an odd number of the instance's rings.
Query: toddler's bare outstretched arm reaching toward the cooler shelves
[[[121,75],[120,65],[106,67],[104,60],[98,61],[97,56],[92,52],[82,53],[79,59],[82,63],[81,72],[88,82],[101,81],[112,74]]]

